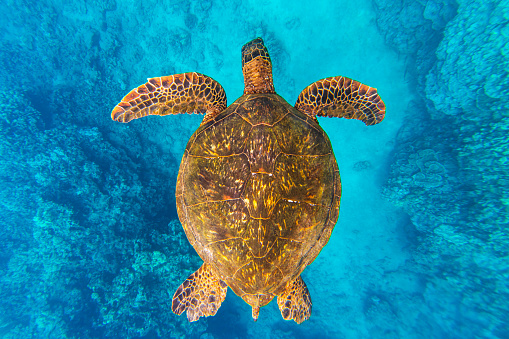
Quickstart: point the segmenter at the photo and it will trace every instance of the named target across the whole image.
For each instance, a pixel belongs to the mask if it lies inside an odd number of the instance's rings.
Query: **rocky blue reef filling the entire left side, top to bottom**
[[[111,121],[138,72],[152,74],[145,67],[158,62],[126,56],[135,46],[120,46],[114,1],[7,6],[9,17],[0,19],[0,337],[199,336],[207,324],[174,317],[171,297],[200,265],[173,207],[174,153],[200,117],[134,127]],[[178,30],[169,37],[188,46]],[[128,74],[121,60],[149,66]]]

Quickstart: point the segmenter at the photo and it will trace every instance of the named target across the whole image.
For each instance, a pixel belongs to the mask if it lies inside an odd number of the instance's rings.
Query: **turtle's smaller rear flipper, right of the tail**
[[[277,304],[285,320],[293,319],[297,324],[311,316],[311,296],[300,276],[289,281],[284,291],[278,295]]]

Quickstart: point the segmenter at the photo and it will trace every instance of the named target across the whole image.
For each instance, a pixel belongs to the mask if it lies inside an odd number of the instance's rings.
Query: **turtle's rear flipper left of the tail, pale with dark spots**
[[[214,276],[210,266],[204,263],[179,286],[173,295],[171,309],[181,315],[187,311],[187,319],[215,315],[226,298],[228,285]]]

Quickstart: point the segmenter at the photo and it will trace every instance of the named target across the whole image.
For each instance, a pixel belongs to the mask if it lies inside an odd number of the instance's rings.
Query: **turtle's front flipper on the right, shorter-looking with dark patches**
[[[312,83],[299,94],[295,108],[311,117],[357,119],[368,126],[385,116],[385,104],[376,88],[345,77]]]

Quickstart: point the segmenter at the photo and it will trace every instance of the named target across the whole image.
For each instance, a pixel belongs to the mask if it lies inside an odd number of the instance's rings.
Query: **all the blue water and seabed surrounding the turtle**
[[[509,1],[12,1],[0,9],[0,337],[508,338]],[[376,126],[319,118],[343,183],[303,273],[311,318],[171,311],[202,263],[175,208],[202,116],[129,124],[146,78],[196,71],[231,103],[261,36],[294,104],[343,75],[376,87]]]

